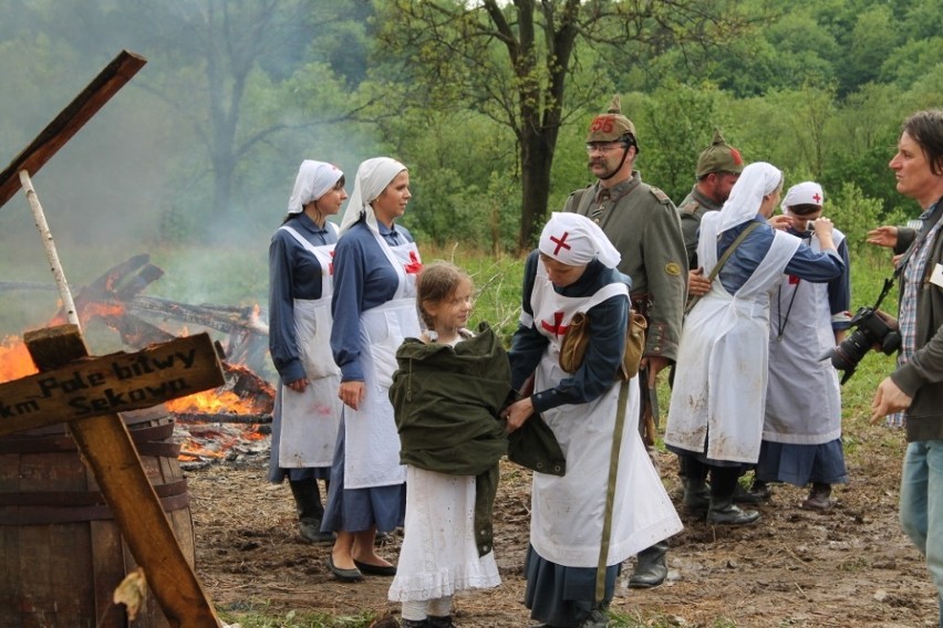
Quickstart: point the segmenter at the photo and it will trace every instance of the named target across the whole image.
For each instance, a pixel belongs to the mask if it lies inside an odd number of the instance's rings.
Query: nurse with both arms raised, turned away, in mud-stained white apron
[[[714,524],[749,524],[756,511],[734,502],[744,464],[759,457],[769,354],[769,292],[784,272],[810,282],[841,275],[844,262],[831,222],[817,221],[822,252],[767,223],[783,190],[783,174],[750,164],[721,211],[701,222],[697,259],[709,274],[747,228],[684,322],[665,428],[665,444],[684,457],[685,506],[706,510]],[[756,227],[752,227],[756,224]],[[709,500],[705,480],[709,472]]]

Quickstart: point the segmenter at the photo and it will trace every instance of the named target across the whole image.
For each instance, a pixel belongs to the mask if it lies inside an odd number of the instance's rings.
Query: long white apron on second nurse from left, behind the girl
[[[361,313],[361,367],[365,394],[359,410],[344,408],[344,488],[388,486],[406,481],[400,464],[400,433],[390,402],[396,371],[396,349],[406,337],[421,333],[416,311],[416,273],[419,252],[412,242],[390,247],[374,233],[393,264],[398,285],[393,299]]]

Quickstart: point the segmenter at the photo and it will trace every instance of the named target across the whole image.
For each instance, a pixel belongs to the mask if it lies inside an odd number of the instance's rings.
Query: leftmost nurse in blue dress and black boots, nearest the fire
[[[288,216],[269,245],[269,352],[279,374],[269,479],[288,477],[298,531],[310,543],[324,506],[318,480],[330,481],[341,419],[341,371],[331,355],[331,258],[338,228],[328,222],[348,198],[344,174],[305,159],[298,169]],[[327,492],[327,491],[325,491]]]

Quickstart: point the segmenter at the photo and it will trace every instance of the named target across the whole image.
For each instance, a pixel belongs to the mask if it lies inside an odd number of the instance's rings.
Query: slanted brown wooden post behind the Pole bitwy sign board
[[[24,341],[41,371],[89,357],[75,325],[30,332]],[[104,415],[68,426],[170,627],[219,628],[221,622],[174,536],[122,418]]]

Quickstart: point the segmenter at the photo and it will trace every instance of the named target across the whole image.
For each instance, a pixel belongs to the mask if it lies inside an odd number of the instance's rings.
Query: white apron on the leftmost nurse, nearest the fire
[[[331,228],[338,229],[333,224]],[[341,369],[331,353],[331,264],[335,244],[315,247],[291,227],[281,229],[298,240],[321,265],[321,299],[296,299],[293,302],[294,335],[308,387],[297,393],[284,384],[281,386],[279,467],[330,467],[343,409],[338,398]]]

